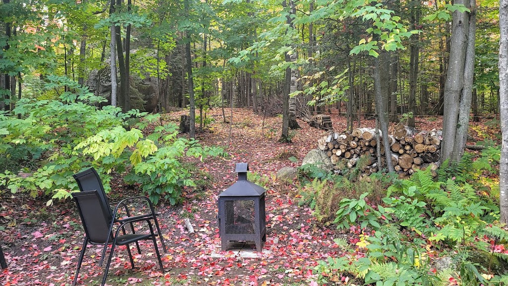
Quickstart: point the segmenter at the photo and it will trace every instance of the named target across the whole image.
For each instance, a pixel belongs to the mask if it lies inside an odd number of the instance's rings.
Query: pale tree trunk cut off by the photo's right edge
[[[508,223],[508,0],[499,1],[499,96],[501,160],[499,162],[500,223]]]

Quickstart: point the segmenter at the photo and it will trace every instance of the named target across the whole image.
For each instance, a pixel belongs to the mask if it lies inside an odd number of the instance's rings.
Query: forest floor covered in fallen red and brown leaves
[[[178,124],[184,112],[166,114],[164,118]],[[226,113],[230,120],[230,110]],[[277,142],[281,117],[265,118],[263,114],[239,108],[233,111],[233,124],[222,122],[220,109],[210,110],[207,116],[214,121],[197,134],[197,139],[204,145],[223,146],[230,156],[205,158],[197,163],[199,169],[209,173],[209,187],[186,190],[181,205],[161,202],[156,206],[161,213],[159,221],[168,247],[167,253],[161,252],[165,272],[161,273],[158,268],[150,241],[141,242],[141,255],[135,253],[135,270],[130,269],[125,247],[119,247],[110,267],[108,285],[316,285],[312,270],[318,261],[330,256],[363,257],[363,248],[355,246],[360,234],[357,230],[338,232],[333,226],[326,228],[317,223],[310,209],[298,206],[297,184],[275,180],[275,172],[282,167],[300,166],[307,152],[316,148],[317,139],[327,132],[299,120],[302,128],[292,131],[293,143],[281,144]],[[344,116],[332,114],[332,120],[335,130],[345,130]],[[494,136],[496,131],[485,124],[487,120],[473,125],[473,137]],[[362,120],[361,125],[373,127],[374,120]],[[440,129],[440,126],[441,117],[417,118],[417,129]],[[288,160],[289,156],[298,161]],[[240,250],[220,250],[217,196],[236,181],[234,166],[237,162],[249,163],[250,172],[266,175],[269,180],[267,241],[262,252],[255,251],[250,244]],[[115,178],[111,185],[112,201],[136,194],[136,190],[124,185],[121,178]],[[195,235],[183,227],[185,218],[192,221]],[[72,202],[46,206],[42,200],[2,194],[0,238],[9,265],[0,272],[1,285],[72,283],[84,239]],[[346,238],[351,243],[349,249],[337,245],[335,238]],[[160,241],[158,243],[162,251]],[[98,266],[101,249],[99,246],[87,249],[78,285],[100,284],[103,275]]]

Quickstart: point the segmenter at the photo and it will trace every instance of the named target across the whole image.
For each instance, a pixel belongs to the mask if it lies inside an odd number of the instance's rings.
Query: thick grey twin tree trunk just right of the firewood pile
[[[475,0],[457,0],[470,13],[455,11],[444,88],[443,142],[441,163],[447,159],[459,161],[464,151],[469,127],[472,81],[474,73]]]

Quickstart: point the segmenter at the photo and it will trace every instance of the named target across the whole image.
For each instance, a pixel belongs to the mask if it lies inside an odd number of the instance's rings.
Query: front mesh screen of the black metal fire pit
[[[225,201],[226,234],[254,234],[254,201]]]

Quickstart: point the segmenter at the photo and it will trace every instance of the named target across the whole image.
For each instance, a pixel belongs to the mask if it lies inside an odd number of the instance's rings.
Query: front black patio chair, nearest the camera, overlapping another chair
[[[116,245],[126,245],[127,252],[129,253],[129,260],[131,261],[131,266],[134,269],[134,260],[132,258],[131,248],[129,247],[130,243],[138,242],[139,240],[151,240],[153,241],[153,246],[155,247],[155,253],[157,254],[157,259],[159,266],[161,267],[161,271],[164,272],[164,267],[162,265],[161,255],[158,251],[157,241],[155,239],[156,235],[153,232],[153,227],[151,224],[150,217],[128,217],[121,220],[120,225],[117,227],[116,231],[113,232],[113,225],[115,223],[115,219],[113,219],[114,215],[118,211],[118,206],[124,201],[130,200],[125,199],[122,200],[113,212],[113,216],[111,216],[111,208],[104,204],[102,198],[99,196],[97,190],[89,190],[84,192],[72,193],[72,197],[76,202],[76,206],[79,211],[79,216],[81,217],[81,222],[83,224],[83,228],[85,230],[85,241],[83,243],[83,249],[81,249],[81,253],[79,255],[78,267],[76,270],[76,276],[74,276],[73,285],[76,285],[79,275],[79,269],[81,268],[81,263],[83,261],[83,256],[86,251],[86,246],[88,243],[90,244],[104,244],[104,249],[107,248],[109,244],[111,244],[111,252],[109,253],[108,262],[106,263],[106,269],[104,270],[104,277],[102,279],[101,285],[104,286],[106,283],[106,278],[108,276],[109,265],[111,264],[111,259],[113,257],[113,253]],[[148,200],[146,197],[136,197],[136,198],[144,198]],[[150,233],[146,234],[126,234],[124,226],[127,224],[133,224],[140,221],[146,221],[148,224],[148,228],[150,229]],[[120,235],[119,232],[122,231]],[[102,266],[103,258],[101,258],[100,266]]]

